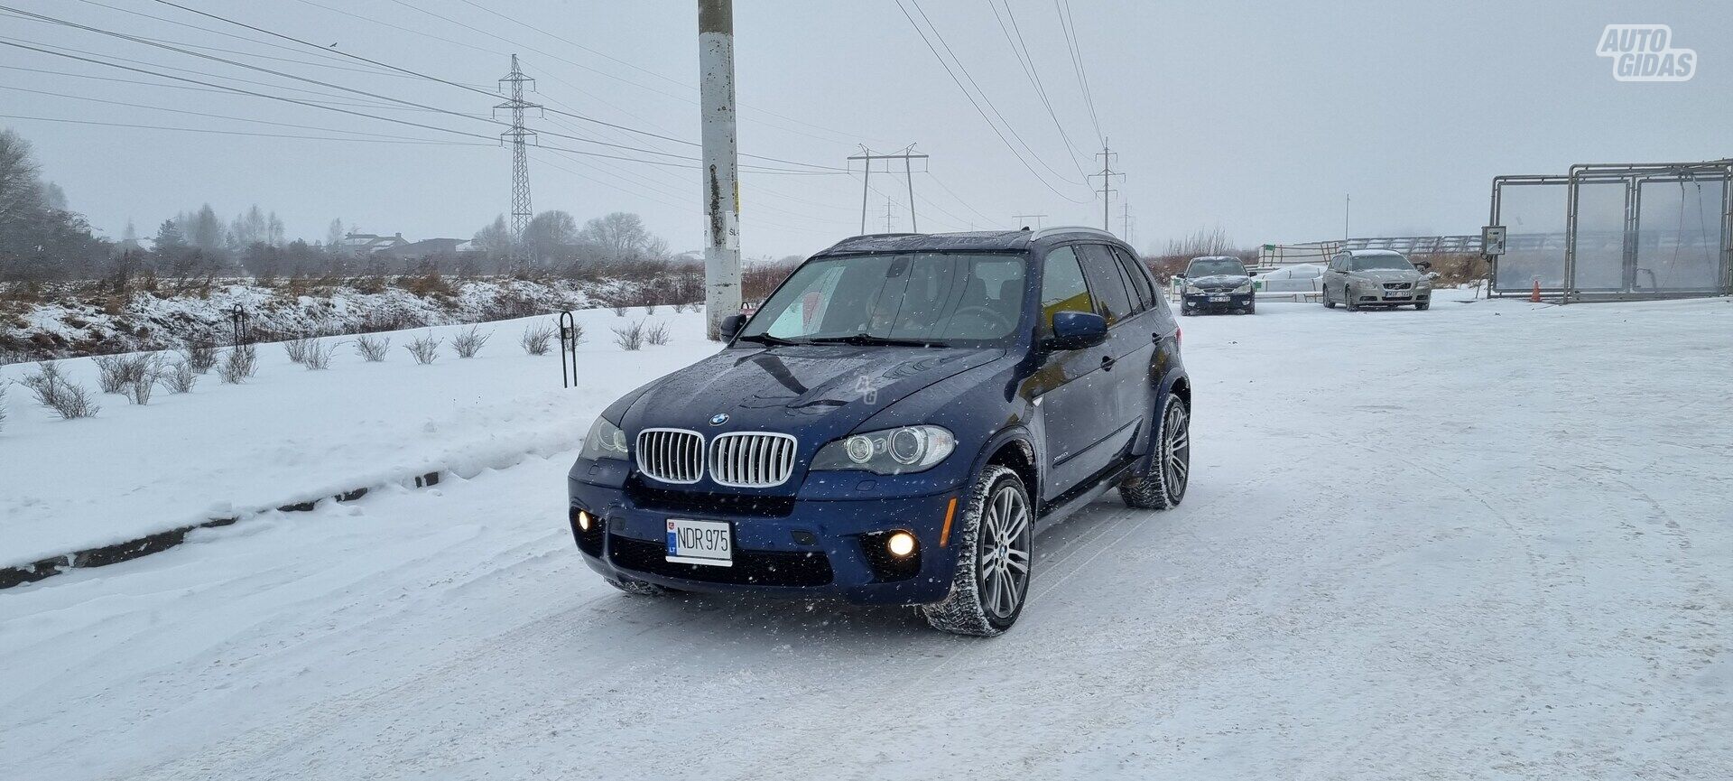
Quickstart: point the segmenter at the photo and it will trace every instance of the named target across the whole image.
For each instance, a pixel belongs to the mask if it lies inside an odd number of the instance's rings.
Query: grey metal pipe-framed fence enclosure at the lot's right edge
[[[1497,177],[1492,294],[1556,301],[1733,293],[1733,159]]]

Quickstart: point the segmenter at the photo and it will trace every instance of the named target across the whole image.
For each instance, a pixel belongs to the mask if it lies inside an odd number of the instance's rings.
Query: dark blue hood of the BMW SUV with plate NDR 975
[[[723,350],[655,383],[622,428],[782,431],[802,445],[844,436],[910,393],[988,364],[1000,348],[782,345]],[[721,424],[711,421],[726,414]]]

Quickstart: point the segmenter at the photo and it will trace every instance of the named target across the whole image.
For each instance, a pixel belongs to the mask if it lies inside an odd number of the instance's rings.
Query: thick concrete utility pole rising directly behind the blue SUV
[[[740,312],[740,154],[735,145],[735,3],[698,0],[704,130],[704,315],[711,339]]]

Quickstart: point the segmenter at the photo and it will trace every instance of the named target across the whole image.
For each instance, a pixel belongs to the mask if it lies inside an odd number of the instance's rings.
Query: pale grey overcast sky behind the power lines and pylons
[[[175,2],[485,88],[516,52],[523,69],[539,78],[532,99],[549,107],[674,139],[698,137],[693,0]],[[993,10],[1003,14],[1007,3],[1076,152],[995,21]],[[206,47],[201,52],[456,113],[485,116],[496,100],[419,78],[381,76],[371,66],[293,43],[276,42],[288,47],[276,48],[230,38],[262,36],[154,0],[0,5]],[[1000,132],[1033,151],[1024,152],[1028,166],[964,97],[896,0],[738,0],[742,152],[842,166],[861,144],[875,151],[917,144],[932,156],[925,165],[931,173],[913,177],[922,230],[1016,227],[1012,215],[1019,213],[1045,213],[1047,225],[1099,225],[1100,199],[1080,168],[1099,170],[1094,152],[1100,137],[1055,3],[901,5],[922,24],[925,10],[991,100],[981,107],[1003,114],[1009,130]],[[1116,182],[1121,192],[1113,196],[1111,223],[1121,229],[1121,204],[1128,204],[1140,248],[1217,225],[1244,246],[1340,237],[1343,194],[1352,194],[1353,236],[1468,234],[1485,222],[1490,178],[1499,173],[1733,156],[1733,3],[1726,2],[1069,5],[1099,130],[1118,152],[1116,170],[1126,175]],[[1671,24],[1672,45],[1695,48],[1700,73],[1684,83],[1615,81],[1612,62],[1594,54],[1601,28],[1613,23]],[[373,97],[9,16],[0,16],[0,40],[125,57],[137,68],[322,106],[341,102],[336,107],[482,137],[499,132],[482,119],[381,107]],[[510,151],[471,135],[203,87],[156,87],[166,80],[14,47],[0,47],[0,114],[338,139],[0,118],[35,144],[45,177],[64,187],[71,208],[111,237],[120,237],[127,220],[149,236],[163,218],[203,203],[225,216],[256,203],[277,211],[289,236],[308,239],[322,237],[331,218],[411,239],[468,237],[510,210]],[[532,116],[530,125],[665,154],[544,135],[549,147],[678,165],[697,154],[693,145],[568,116]],[[532,152],[530,182],[537,211],[567,210],[581,222],[636,211],[671,248],[702,244],[695,170],[541,149]],[[868,199],[868,230],[884,230],[887,196],[896,201],[891,227],[906,230],[903,177],[875,175],[873,187],[880,192]],[[749,173],[742,184],[742,248],[749,256],[811,253],[858,232],[860,210],[858,173]]]

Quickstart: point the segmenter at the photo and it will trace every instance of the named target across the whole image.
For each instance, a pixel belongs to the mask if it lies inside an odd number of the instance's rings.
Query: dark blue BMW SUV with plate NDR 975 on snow
[[[1113,487],[1185,495],[1191,383],[1161,287],[1107,232],[880,234],[806,260],[728,346],[613,402],[568,476],[631,594],[918,604],[995,636],[1036,535]]]

